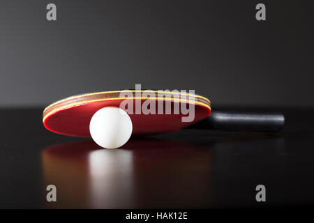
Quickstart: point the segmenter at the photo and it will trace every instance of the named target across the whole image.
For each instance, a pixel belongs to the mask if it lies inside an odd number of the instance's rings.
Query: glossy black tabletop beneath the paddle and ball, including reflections
[[[280,134],[180,130],[100,149],[45,130],[41,108],[0,109],[0,208],[239,208],[314,203],[314,109]],[[46,201],[56,185],[57,202]],[[265,185],[266,202],[255,200]]]

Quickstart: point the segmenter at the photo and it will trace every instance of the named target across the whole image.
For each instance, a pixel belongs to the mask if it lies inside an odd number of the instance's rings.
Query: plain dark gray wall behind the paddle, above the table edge
[[[135,84],[213,105],[314,105],[311,1],[0,2],[1,107]]]

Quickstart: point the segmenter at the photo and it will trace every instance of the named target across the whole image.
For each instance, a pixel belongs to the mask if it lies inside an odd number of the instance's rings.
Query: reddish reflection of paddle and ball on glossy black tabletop
[[[189,208],[211,203],[211,149],[184,141],[132,139],[119,149],[93,141],[43,150],[48,208]]]

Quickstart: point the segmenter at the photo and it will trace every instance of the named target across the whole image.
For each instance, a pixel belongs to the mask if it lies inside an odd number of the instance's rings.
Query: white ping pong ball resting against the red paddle
[[[89,132],[96,144],[103,148],[123,146],[132,134],[130,116],[119,107],[99,109],[89,123]]]

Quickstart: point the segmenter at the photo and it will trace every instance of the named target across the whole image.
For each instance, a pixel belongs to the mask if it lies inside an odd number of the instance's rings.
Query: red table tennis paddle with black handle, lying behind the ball
[[[130,91],[130,90],[128,90]],[[157,93],[146,90],[145,92]],[[119,107],[124,100],[156,100],[165,104],[186,104],[195,106],[195,116],[191,122],[182,122],[184,114],[129,114],[133,124],[132,135],[160,134],[182,128],[202,128],[229,131],[278,132],[283,128],[284,116],[279,113],[211,111],[211,102],[200,95],[164,91],[163,97],[138,98],[144,90],[131,90],[131,97],[121,98],[121,91],[104,91],[74,95],[54,102],[43,112],[43,124],[47,130],[74,137],[91,137],[89,123],[91,117],[103,107]],[[159,92],[159,91],[158,91]],[[184,97],[181,97],[184,96]],[[182,99],[184,98],[184,99]],[[164,106],[165,108],[165,106]]]

